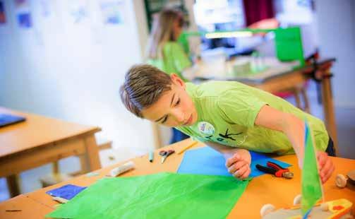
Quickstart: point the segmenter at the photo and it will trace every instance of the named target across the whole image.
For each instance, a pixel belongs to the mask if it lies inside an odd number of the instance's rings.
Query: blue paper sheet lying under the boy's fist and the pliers
[[[255,165],[266,166],[266,162],[275,162],[282,167],[289,167],[286,162],[269,158],[263,153],[255,153],[251,151],[251,174],[249,177],[258,177],[264,172],[256,169]],[[181,161],[178,173],[190,173],[190,174],[206,174],[206,175],[220,175],[231,176],[225,167],[225,160],[221,153],[213,150],[210,147],[198,148],[195,150],[186,151]]]

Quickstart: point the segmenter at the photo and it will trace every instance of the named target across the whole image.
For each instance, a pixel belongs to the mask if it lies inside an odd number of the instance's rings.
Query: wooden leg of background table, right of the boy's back
[[[334,142],[336,154],[339,153],[338,150],[338,141],[337,141],[337,124],[335,122],[335,109],[332,99],[332,87],[330,83],[330,78],[327,77],[330,75],[330,70],[325,70],[325,78],[322,81],[322,100],[323,100],[323,111],[325,126],[327,131],[329,131],[330,137]]]

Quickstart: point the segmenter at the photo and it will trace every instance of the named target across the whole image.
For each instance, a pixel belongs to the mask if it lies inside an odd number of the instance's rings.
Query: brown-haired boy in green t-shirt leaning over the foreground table
[[[305,119],[319,150],[322,182],[334,171],[327,153],[335,155],[335,151],[323,122],[263,90],[234,81],[193,85],[153,66],[137,65],[126,73],[120,92],[122,102],[136,116],[175,127],[218,150],[227,160],[228,171],[239,179],[251,172],[248,150],[296,153],[302,167]]]

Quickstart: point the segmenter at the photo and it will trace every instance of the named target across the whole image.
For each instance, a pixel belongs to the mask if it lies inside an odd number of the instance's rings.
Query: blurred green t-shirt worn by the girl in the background
[[[167,42],[163,47],[163,59],[148,59],[148,64],[157,67],[167,74],[176,73],[183,81],[182,71],[192,66],[183,48],[178,42]]]

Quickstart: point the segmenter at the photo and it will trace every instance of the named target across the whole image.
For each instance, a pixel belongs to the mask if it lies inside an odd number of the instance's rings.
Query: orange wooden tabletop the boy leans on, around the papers
[[[167,146],[166,148],[174,148],[174,150],[179,151],[181,148],[187,146],[190,143],[191,139],[186,139],[185,141],[175,143],[171,146]],[[199,143],[198,146],[203,146],[203,144]],[[198,146],[195,146],[195,148]],[[158,172],[176,172],[176,170],[179,168],[179,164],[183,158],[183,155],[174,153],[173,155],[169,156],[169,158],[167,158],[167,160],[164,162],[164,165],[162,165],[160,164],[160,157],[158,156],[158,152],[159,150],[155,151],[154,162],[148,161],[148,155],[143,155],[139,158],[131,159],[133,162],[135,162],[136,169],[130,172],[126,172],[120,177],[154,174]],[[290,167],[290,170],[291,172],[294,172],[294,179],[276,178],[269,174],[255,177],[253,180],[251,180],[251,182],[249,182],[246,191],[231,210],[228,218],[260,218],[260,208],[265,203],[272,203],[276,208],[292,206],[293,199],[297,194],[300,194],[301,188],[301,172],[299,168],[296,167],[296,156],[285,155],[278,157],[277,159],[284,162],[289,162],[293,165]],[[355,160],[344,158],[332,158],[332,160],[335,163],[336,170],[332,177],[324,185],[325,200],[330,201],[344,198],[355,204],[354,188],[346,187],[344,189],[339,189],[335,186],[336,174],[347,174],[349,170],[354,170]],[[109,174],[109,170],[112,170],[113,167],[117,167],[123,163],[124,162],[120,162],[116,165],[113,165],[112,167],[106,167],[101,170],[97,170],[95,171],[98,173],[97,176],[88,177],[86,175],[82,175],[68,182],[62,182],[52,187],[33,191],[29,194],[26,194],[25,196],[31,201],[37,201],[37,203],[40,203],[43,206],[54,209],[54,206],[56,206],[58,203],[53,201],[51,196],[45,194],[46,191],[61,187],[64,184],[69,183],[83,187],[90,186],[90,184],[96,182],[97,179],[101,179],[106,174]],[[24,203],[24,206],[28,204],[30,204],[30,201],[26,204]]]

